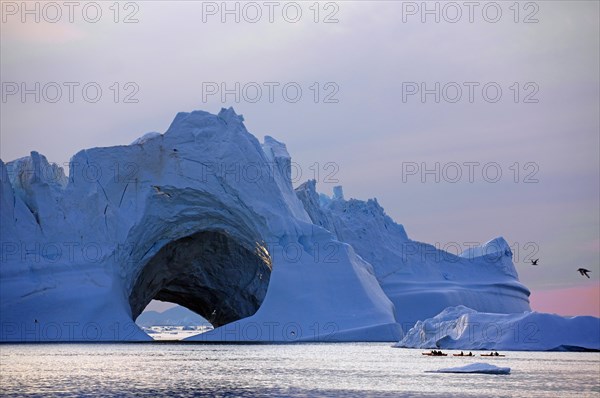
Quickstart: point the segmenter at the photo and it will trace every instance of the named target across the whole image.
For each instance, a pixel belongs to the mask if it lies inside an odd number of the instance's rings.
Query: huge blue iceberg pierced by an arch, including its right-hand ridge
[[[1,177],[0,340],[150,340],[154,298],[206,341],[398,341],[448,305],[529,310],[498,238],[457,256],[409,240],[376,200],[294,190],[283,143],[233,109],[78,152],[32,152]]]

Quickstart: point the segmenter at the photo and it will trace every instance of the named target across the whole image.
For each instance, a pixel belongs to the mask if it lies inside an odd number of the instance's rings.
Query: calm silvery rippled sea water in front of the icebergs
[[[390,344],[0,345],[3,396],[600,396],[600,353],[425,357]],[[487,362],[510,375],[432,374]]]

